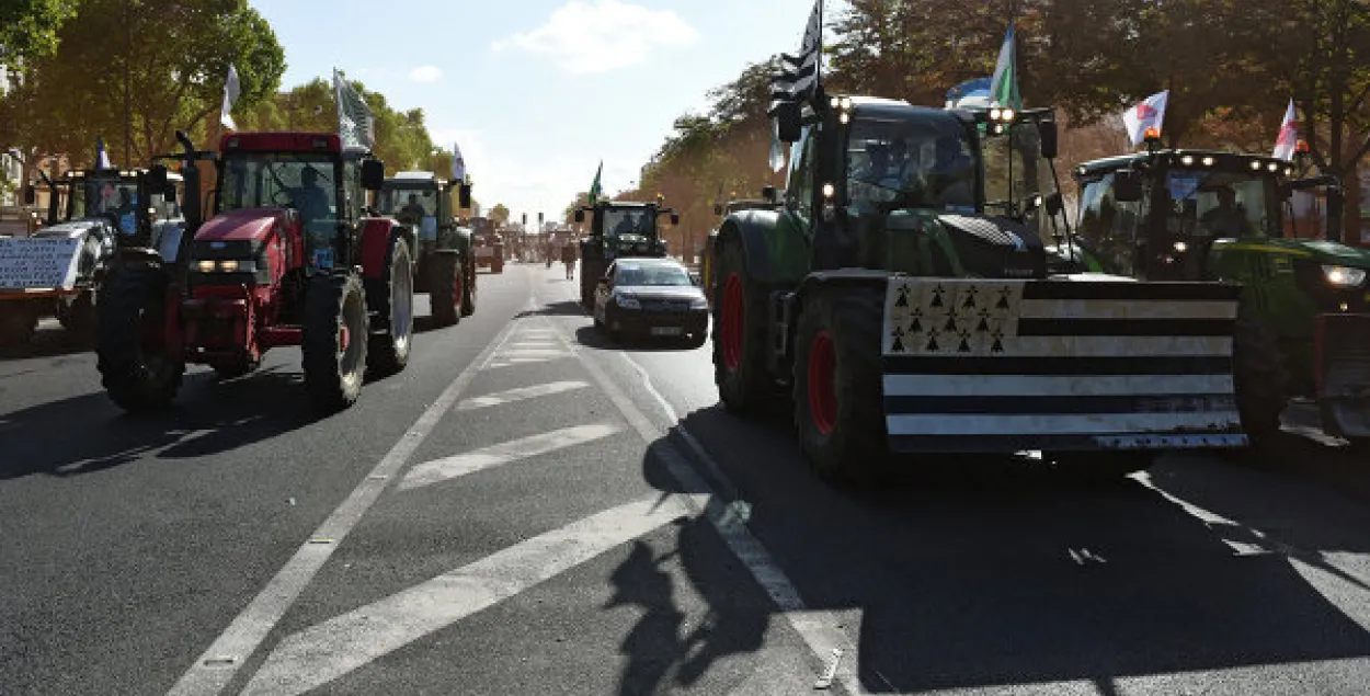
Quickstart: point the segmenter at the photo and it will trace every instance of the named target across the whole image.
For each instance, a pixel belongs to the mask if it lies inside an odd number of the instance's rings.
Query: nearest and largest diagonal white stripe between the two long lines
[[[241,696],[306,693],[688,512],[680,496],[651,496],[334,617],[282,640]]]

